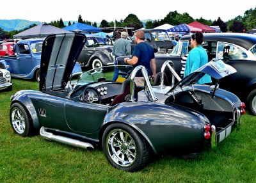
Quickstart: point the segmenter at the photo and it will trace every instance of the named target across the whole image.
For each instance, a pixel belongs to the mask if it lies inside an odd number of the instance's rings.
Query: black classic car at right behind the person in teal
[[[157,70],[164,61],[172,60],[175,71],[180,75],[182,61],[191,50],[191,35],[182,36],[169,54],[156,54]],[[202,46],[207,51],[209,61],[222,57],[237,72],[220,80],[220,88],[234,93],[245,102],[248,111],[256,115],[256,35],[244,33],[205,33]],[[120,58],[121,59],[121,58]]]

